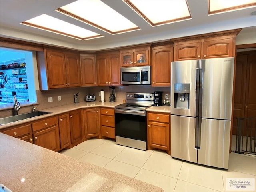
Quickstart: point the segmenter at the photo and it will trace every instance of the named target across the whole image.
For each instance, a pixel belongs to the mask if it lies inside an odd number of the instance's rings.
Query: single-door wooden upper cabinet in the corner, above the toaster
[[[96,86],[95,55],[80,55],[82,86]]]

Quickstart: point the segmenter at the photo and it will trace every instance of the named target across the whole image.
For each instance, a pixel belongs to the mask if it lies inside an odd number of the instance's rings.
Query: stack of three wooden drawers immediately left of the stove
[[[115,138],[114,108],[100,108],[100,134],[102,137]]]

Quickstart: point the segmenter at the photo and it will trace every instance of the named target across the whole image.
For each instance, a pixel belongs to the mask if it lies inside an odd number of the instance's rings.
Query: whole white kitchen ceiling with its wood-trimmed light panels
[[[219,2],[219,0],[211,2],[210,0],[90,0],[89,2],[104,4],[108,7],[107,9],[124,18],[127,22],[124,25],[126,28],[119,28],[124,21],[117,20],[118,16],[108,18],[102,24],[98,20],[84,18],[84,13],[68,8],[68,5],[77,3],[75,0],[0,0],[0,36],[78,50],[102,50],[236,28],[252,27],[254,30],[256,26],[256,16],[252,14],[256,10],[256,0],[239,1],[246,2],[250,7],[235,5],[234,11],[223,7],[216,9],[213,4],[210,6],[210,3]],[[180,2],[185,8],[184,11],[171,6],[170,2],[176,2],[176,4]],[[151,4],[153,10],[151,10]],[[106,9],[102,11],[98,6],[92,8],[80,6],[80,8],[84,12],[92,11],[93,18],[97,16],[100,20],[109,15]],[[237,8],[242,9],[237,10]],[[220,11],[225,12],[219,13]],[[180,15],[181,12],[184,14]],[[216,14],[217,12],[219,14]],[[171,13],[174,16],[171,16]],[[65,31],[60,32],[59,29],[54,29],[52,33],[48,26],[44,26],[44,30],[41,30],[35,24],[33,28],[20,24],[44,14],[92,32],[92,34],[86,36],[82,33],[82,35],[72,36]],[[118,27],[109,28],[105,24],[114,24],[114,27]],[[66,28],[78,32],[73,27]]]

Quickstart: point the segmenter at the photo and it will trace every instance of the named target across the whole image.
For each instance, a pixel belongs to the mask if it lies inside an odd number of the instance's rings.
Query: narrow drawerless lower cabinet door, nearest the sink
[[[60,149],[64,149],[71,145],[69,119],[69,113],[61,114],[58,116],[60,132]]]

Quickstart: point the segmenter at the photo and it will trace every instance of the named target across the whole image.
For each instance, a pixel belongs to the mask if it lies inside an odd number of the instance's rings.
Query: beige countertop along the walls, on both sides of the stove
[[[79,103],[71,103],[71,104],[66,104],[66,105],[62,105],[62,106],[42,109],[40,111],[50,112],[50,114],[45,114],[45,115],[41,115],[41,116],[37,116],[37,117],[33,117],[33,118],[28,118],[28,119],[24,119],[24,120],[20,120],[20,121],[16,121],[16,122],[8,123],[8,124],[5,124],[5,125],[0,125],[0,129],[8,128],[8,127],[11,127],[11,126],[16,126],[18,124],[31,122],[31,121],[34,121],[34,120],[50,117],[50,116],[53,116],[53,115],[62,114],[62,113],[65,113],[65,112],[76,110],[76,109],[89,108],[89,107],[110,107],[110,108],[114,108],[116,105],[119,105],[119,104],[122,104],[122,102],[100,102],[100,101],[85,102],[85,101],[83,101],[83,102],[79,102]],[[158,106],[158,107],[151,106],[151,107],[147,108],[146,111],[170,113],[170,106]]]

